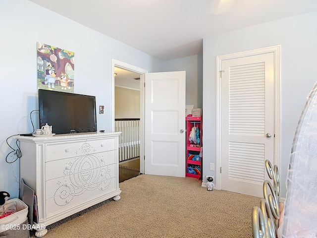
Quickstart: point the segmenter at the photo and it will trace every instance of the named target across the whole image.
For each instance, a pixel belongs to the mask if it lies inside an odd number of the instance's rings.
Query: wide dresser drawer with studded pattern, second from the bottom
[[[46,199],[61,196],[80,188],[93,190],[101,182],[117,177],[116,164],[87,170],[81,173],[51,179],[45,182]]]

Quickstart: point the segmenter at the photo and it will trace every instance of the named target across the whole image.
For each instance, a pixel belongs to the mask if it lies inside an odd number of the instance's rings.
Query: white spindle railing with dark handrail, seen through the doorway
[[[119,137],[119,162],[140,156],[140,119],[115,119]]]

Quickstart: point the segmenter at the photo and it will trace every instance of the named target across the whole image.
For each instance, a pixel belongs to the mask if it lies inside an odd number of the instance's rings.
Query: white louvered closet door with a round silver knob
[[[221,189],[263,196],[274,164],[274,53],[221,61]]]

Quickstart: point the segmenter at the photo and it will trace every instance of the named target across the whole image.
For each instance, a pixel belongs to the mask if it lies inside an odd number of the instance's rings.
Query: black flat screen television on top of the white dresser
[[[97,131],[95,96],[39,89],[39,110],[55,134]]]

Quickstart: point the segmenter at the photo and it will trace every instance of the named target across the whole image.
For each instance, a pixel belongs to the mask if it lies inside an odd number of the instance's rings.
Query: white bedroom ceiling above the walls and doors
[[[317,0],[30,0],[160,60],[213,34],[317,10]]]

